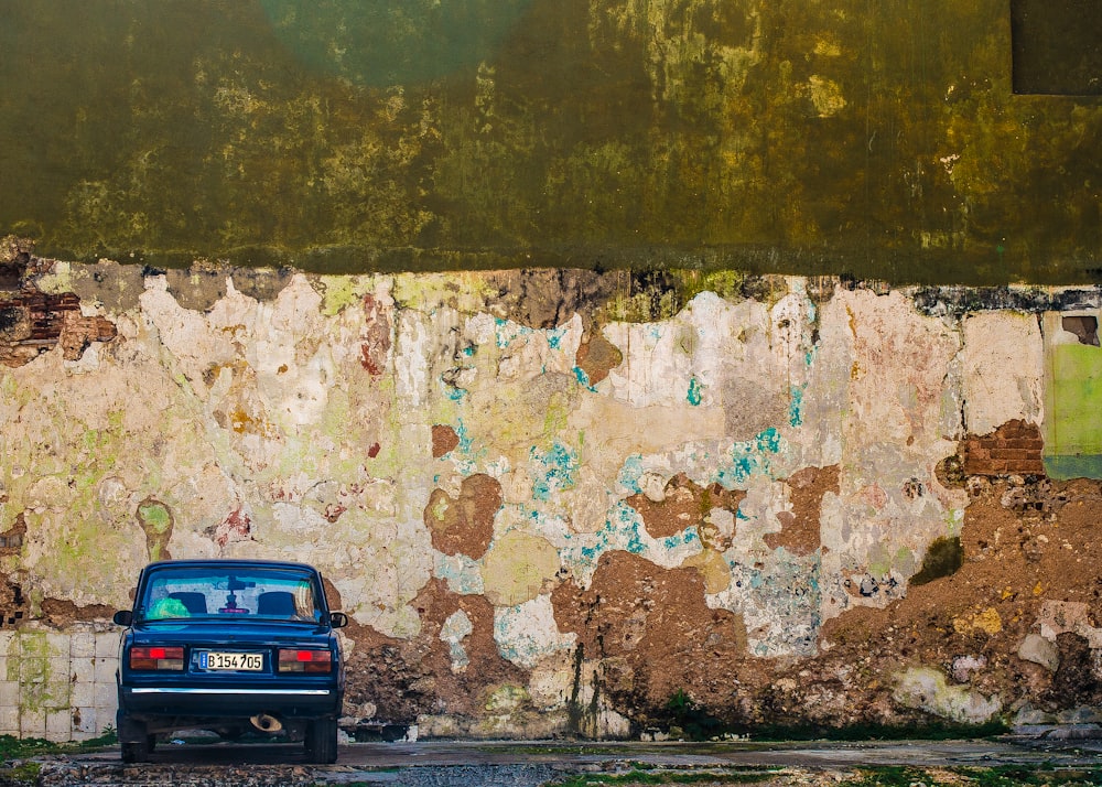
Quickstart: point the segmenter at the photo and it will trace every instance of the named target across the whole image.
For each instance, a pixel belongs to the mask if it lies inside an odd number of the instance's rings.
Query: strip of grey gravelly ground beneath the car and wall
[[[1102,784],[1100,741],[958,741],[806,744],[582,744],[422,742],[353,744],[338,764],[303,762],[301,746],[196,745],[159,748],[153,762],[122,765],[119,753],[39,757],[0,767],[0,787],[296,787],[396,785],[400,787],[542,787],[569,783],[618,787],[756,784],[764,787],[872,787],[969,784],[963,775],[987,773],[986,784],[1014,787],[1013,766],[1044,775],[1045,785]],[[869,769],[880,768],[880,772]],[[1058,778],[1061,774],[1067,779]],[[1085,774],[1090,781],[1082,779]],[[714,778],[702,780],[711,776]],[[1057,777],[1057,778],[1050,778]],[[901,781],[900,781],[901,779]],[[971,781],[975,784],[974,780]]]

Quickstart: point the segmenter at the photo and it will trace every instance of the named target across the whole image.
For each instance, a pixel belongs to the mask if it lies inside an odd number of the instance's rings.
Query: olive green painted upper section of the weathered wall
[[[1099,278],[1102,107],[1012,94],[1003,0],[392,6],[0,0],[0,235],[155,266]]]

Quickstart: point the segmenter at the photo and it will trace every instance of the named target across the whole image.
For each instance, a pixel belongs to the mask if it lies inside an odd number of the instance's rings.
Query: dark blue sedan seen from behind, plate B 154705
[[[302,563],[170,560],[138,579],[119,647],[122,759],[144,762],[158,735],[253,730],[303,740],[313,762],[337,757],[344,662],[322,576]]]

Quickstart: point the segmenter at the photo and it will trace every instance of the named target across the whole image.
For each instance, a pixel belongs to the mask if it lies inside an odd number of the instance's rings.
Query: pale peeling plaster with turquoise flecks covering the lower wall
[[[463,729],[623,732],[620,710],[682,688],[640,677],[648,654],[679,657],[637,629],[690,610],[703,643],[724,632],[731,673],[765,686],[777,665],[830,658],[828,625],[943,592],[982,556],[966,514],[987,487],[938,467],[966,435],[1045,424],[1041,333],[1017,311],[786,278],[761,300],[702,292],[644,323],[510,306],[555,314],[532,327],[503,315],[490,280],[294,274],[258,300],[207,276],[215,295],[185,299],[201,310],[147,276],[110,341],[0,370],[0,532],[19,533],[0,561],[23,608],[122,607],[156,557],[305,560],[354,619],[349,643],[409,678],[395,707],[486,692],[493,709]],[[607,376],[582,380],[597,336]],[[1093,499],[1076,494],[1060,505]],[[961,570],[912,582],[953,539]],[[651,586],[679,607],[647,606]],[[609,592],[625,619],[601,607]],[[1016,653],[1024,618],[973,601],[946,611],[947,636],[1013,636]],[[1045,603],[1046,642],[1102,647],[1081,602]],[[615,653],[585,623],[598,608],[623,626]],[[469,668],[486,654],[496,677]],[[974,655],[987,666],[968,680],[983,681],[994,654]],[[892,686],[882,700],[900,713],[1004,707],[932,672]]]

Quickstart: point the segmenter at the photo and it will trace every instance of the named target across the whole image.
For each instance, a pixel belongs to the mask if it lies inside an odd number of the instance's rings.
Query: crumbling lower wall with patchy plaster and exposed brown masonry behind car
[[[422,734],[1100,701],[1102,489],[1040,448],[1093,289],[4,265],[0,732],[109,723],[110,613],[201,556],[317,564],[349,718]]]

